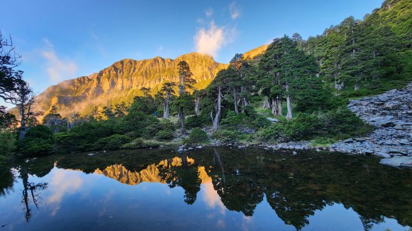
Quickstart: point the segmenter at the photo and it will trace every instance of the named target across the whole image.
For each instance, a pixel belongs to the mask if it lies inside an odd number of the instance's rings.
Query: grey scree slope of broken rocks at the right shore
[[[375,97],[350,101],[348,108],[375,130],[363,138],[331,145],[331,151],[381,156],[382,164],[412,167],[412,84]]]

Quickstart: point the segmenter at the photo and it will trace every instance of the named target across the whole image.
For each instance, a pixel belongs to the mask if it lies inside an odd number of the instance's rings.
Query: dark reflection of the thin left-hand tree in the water
[[[34,206],[38,209],[38,200],[40,199],[40,192],[47,189],[47,183],[32,183],[29,182],[29,174],[27,170],[21,169],[20,171],[20,178],[23,182],[23,198],[21,202],[24,205],[24,212],[25,212],[25,219],[27,222],[30,221],[32,217],[32,209],[30,208],[30,197]]]

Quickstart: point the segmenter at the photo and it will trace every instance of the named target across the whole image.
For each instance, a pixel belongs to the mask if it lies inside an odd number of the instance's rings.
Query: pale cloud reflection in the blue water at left
[[[56,212],[60,209],[62,197],[65,194],[76,193],[80,186],[83,184],[82,178],[76,171],[55,169],[52,182],[50,182],[50,189],[52,189],[52,195],[47,199],[47,204],[54,204],[54,210],[52,216],[56,215]]]

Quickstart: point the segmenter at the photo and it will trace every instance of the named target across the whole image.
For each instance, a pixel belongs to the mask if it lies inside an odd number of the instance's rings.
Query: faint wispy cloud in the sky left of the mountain
[[[41,55],[47,61],[46,70],[47,75],[49,75],[50,77],[50,80],[56,83],[75,77],[77,70],[76,64],[70,60],[62,60],[61,58],[59,58],[53,49],[54,46],[52,45],[52,43],[47,40],[47,38],[45,38],[44,41],[48,49],[47,51],[42,51]]]

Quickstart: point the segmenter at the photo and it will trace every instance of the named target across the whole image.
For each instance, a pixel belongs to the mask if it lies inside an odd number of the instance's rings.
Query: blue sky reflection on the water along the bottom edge
[[[184,190],[167,184],[143,182],[121,184],[100,174],[54,168],[43,178],[30,176],[30,182],[48,182],[41,195],[39,210],[27,224],[23,219],[21,180],[14,192],[0,197],[0,225],[4,230],[295,230],[279,219],[266,201],[258,204],[253,217],[227,210],[207,173],[201,173],[201,191],[196,202],[184,202]],[[7,210],[3,209],[7,208]],[[308,217],[302,230],[363,230],[352,208],[342,204],[326,206]],[[375,225],[371,231],[404,231],[394,219]]]

